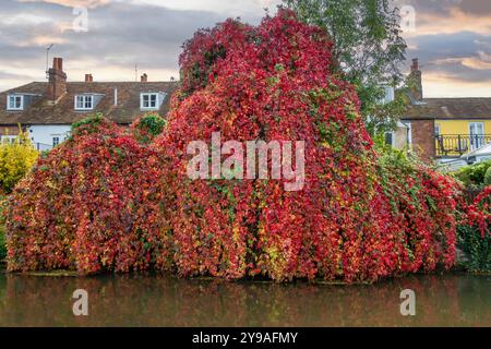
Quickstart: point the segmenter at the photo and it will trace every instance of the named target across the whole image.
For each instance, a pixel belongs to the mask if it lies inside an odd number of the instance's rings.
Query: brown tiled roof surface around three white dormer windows
[[[45,94],[47,82],[34,82],[0,93],[0,125],[21,124],[72,124],[95,112],[119,124],[129,124],[143,116],[140,109],[141,93],[166,93],[158,110],[161,117],[169,111],[170,97],[179,87],[179,82],[68,82],[67,94],[56,105],[49,105]],[[118,89],[118,105],[115,106],[115,88]],[[8,111],[9,94],[35,94],[41,97],[23,111]],[[75,111],[74,98],[77,94],[101,94],[103,99],[94,110]]]

